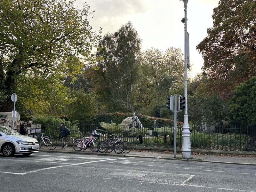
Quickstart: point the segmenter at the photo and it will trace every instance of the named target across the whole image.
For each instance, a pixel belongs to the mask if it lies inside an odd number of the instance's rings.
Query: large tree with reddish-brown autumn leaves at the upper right
[[[226,99],[236,85],[256,75],[255,18],[254,0],[220,0],[213,9],[213,27],[197,45],[204,58],[203,72]]]

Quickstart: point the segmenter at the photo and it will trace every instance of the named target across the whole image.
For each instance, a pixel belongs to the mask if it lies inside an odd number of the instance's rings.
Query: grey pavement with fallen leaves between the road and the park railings
[[[256,166],[256,152],[246,151],[213,151],[213,150],[196,150],[192,149],[191,159],[185,159],[181,156],[181,149],[177,148],[176,157],[173,154],[173,148],[151,148],[151,147],[132,147],[132,150],[125,154],[116,154],[114,151],[111,153],[92,152],[89,148],[79,152],[72,150],[72,144],[67,148],[61,149],[61,146],[53,150],[42,146],[39,152],[52,152],[52,153],[66,153],[66,154],[81,154],[81,155],[104,155],[104,156],[125,156],[125,157],[140,157],[140,158],[159,158],[180,161],[197,161],[197,162],[210,162],[222,164],[241,164],[241,165],[255,165]]]

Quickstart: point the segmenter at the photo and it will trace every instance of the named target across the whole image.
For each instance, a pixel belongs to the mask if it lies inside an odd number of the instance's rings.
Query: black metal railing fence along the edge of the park
[[[152,147],[173,147],[173,125],[143,125],[136,124],[108,124],[108,123],[79,123],[66,125],[70,130],[70,136],[80,138],[80,135],[89,136],[87,132],[98,127],[100,140],[106,140],[110,135],[123,136],[122,140],[128,140],[132,145]],[[59,139],[60,122],[44,125],[41,129],[45,135]],[[191,126],[191,148],[208,150],[248,150],[256,151],[256,127],[249,126]],[[71,142],[71,140],[70,140]],[[177,148],[182,147],[182,125],[177,125]]]

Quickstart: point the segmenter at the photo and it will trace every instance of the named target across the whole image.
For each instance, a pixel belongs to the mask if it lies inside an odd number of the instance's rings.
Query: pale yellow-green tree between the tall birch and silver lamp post
[[[141,66],[135,108],[140,113],[159,117],[166,96],[184,86],[183,55],[179,48],[170,47],[164,53],[151,48],[142,53]]]

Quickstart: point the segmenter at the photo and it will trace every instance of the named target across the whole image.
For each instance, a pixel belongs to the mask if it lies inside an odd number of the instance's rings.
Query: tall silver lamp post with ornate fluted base
[[[184,97],[185,97],[185,112],[184,112],[184,124],[182,130],[182,148],[181,148],[181,156],[182,158],[191,159],[191,143],[190,143],[190,131],[188,124],[188,74],[187,74],[187,62],[188,62],[188,52],[187,52],[187,6],[188,0],[180,0],[184,2],[184,31],[185,31],[185,74],[184,74]]]

